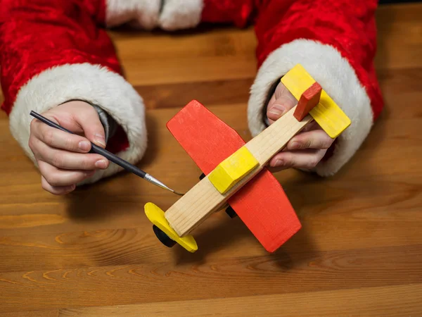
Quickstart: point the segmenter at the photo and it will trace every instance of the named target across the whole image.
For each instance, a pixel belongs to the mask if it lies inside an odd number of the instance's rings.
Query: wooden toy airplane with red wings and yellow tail
[[[196,241],[189,234],[213,212],[226,207],[229,215],[237,213],[269,252],[300,230],[293,206],[265,166],[312,120],[335,138],[350,125],[350,119],[299,64],[281,82],[298,105],[246,144],[198,101],[191,101],[167,123],[203,171],[200,182],[166,212],[155,204],[145,205],[155,235],[167,247],[178,243],[196,251]]]

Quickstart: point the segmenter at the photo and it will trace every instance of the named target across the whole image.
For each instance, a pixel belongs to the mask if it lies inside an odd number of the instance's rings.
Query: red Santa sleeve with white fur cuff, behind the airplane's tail
[[[252,135],[265,128],[269,89],[300,63],[352,120],[315,171],[332,175],[349,161],[383,108],[373,66],[376,6],[376,0],[203,2],[203,21],[255,23],[259,70],[248,104]]]

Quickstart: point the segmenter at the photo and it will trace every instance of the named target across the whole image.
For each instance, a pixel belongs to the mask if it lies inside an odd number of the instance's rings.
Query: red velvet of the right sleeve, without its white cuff
[[[374,119],[383,99],[373,67],[376,54],[377,0],[205,0],[204,22],[234,23],[253,20],[258,39],[258,67],[281,45],[312,39],[335,47],[354,68],[371,99]]]

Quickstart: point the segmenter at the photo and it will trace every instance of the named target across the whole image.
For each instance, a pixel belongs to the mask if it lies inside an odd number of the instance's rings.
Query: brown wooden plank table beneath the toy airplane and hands
[[[68,197],[39,174],[0,118],[1,316],[421,316],[422,5],[378,11],[376,67],[386,107],[333,178],[277,178],[303,228],[267,254],[238,218],[212,216],[196,254],[167,249],[143,213],[177,197],[119,175]],[[198,99],[249,139],[252,29],[184,35],[113,32],[148,105],[139,164],[180,191],[200,170],[165,123]]]

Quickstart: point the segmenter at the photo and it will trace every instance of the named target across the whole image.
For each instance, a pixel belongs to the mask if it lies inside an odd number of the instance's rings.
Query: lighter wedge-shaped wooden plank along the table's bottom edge
[[[60,309],[60,317],[113,316],[418,316],[422,285]],[[328,304],[329,303],[329,304]],[[357,304],[358,303],[358,304]]]

